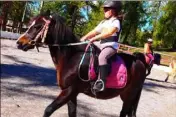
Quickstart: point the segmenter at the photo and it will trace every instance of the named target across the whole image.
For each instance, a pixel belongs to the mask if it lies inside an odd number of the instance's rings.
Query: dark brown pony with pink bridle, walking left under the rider
[[[42,38],[41,38],[42,37]],[[29,29],[17,40],[19,49],[27,51],[35,46],[45,43],[49,46],[50,54],[57,71],[57,81],[61,88],[58,97],[45,109],[44,117],[49,117],[56,109],[64,104],[68,105],[69,117],[76,117],[77,96],[84,93],[94,97],[91,84],[94,81],[88,79],[89,54],[85,57],[78,70],[80,60],[87,44],[79,45],[80,41],[64,23],[64,19],[49,12],[40,14],[34,18]],[[127,68],[127,84],[121,89],[106,88],[103,92],[97,92],[96,98],[110,99],[120,95],[123,106],[120,117],[136,117],[136,110],[140,99],[144,80],[146,78],[145,64],[133,55],[119,53]],[[145,59],[145,58],[142,58]]]

